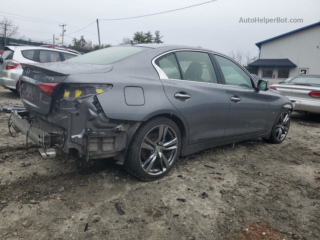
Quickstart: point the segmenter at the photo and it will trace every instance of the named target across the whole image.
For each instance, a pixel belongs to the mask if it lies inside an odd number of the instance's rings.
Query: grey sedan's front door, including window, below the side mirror
[[[221,78],[228,90],[229,116],[225,138],[264,130],[272,96],[256,90],[254,80],[234,60],[215,54]]]

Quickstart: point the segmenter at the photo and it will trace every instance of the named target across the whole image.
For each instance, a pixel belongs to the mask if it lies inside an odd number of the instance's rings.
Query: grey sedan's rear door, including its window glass
[[[173,51],[155,60],[166,96],[188,123],[189,145],[224,136],[228,92],[212,60],[211,53],[196,50]]]

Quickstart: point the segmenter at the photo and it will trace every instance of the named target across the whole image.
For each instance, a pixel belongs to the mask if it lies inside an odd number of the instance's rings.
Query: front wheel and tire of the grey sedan
[[[273,124],[270,137],[262,138],[266,142],[279,144],[287,137],[290,127],[290,111],[288,108],[282,108]]]

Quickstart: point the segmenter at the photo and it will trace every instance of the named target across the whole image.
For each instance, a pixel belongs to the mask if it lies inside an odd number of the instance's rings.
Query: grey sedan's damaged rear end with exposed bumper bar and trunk
[[[127,141],[133,135],[128,130],[136,129],[139,122],[108,118],[97,98],[113,87],[105,75],[113,64],[21,65],[19,84],[26,110],[12,112],[12,126],[26,135],[27,142],[42,147],[43,159],[114,157],[124,161]]]

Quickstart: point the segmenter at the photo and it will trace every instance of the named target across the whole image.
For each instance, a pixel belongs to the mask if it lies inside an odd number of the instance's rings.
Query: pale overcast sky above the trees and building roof
[[[63,22],[67,24],[66,34],[70,34],[89,25],[97,18],[110,19],[146,15],[206,1],[208,0],[122,0],[118,1],[119,3],[116,3],[117,1],[111,3],[111,1],[101,0],[56,0],[54,2],[34,1],[35,4],[31,4],[33,1],[27,1],[28,4],[26,4],[25,0],[16,0],[14,7],[1,7],[0,11]],[[22,17],[19,16],[0,14],[0,19],[3,18],[2,15],[9,18],[12,16],[11,19],[14,23],[19,24],[20,33],[26,37],[49,39],[52,38],[53,33],[55,36],[59,36],[62,32],[62,27],[59,27],[59,24],[21,20]],[[302,18],[303,23],[239,23],[240,17]],[[258,47],[254,45],[255,43],[316,23],[319,20],[319,0],[217,0],[154,16],[128,20],[101,20],[99,27],[101,43],[117,44],[123,37],[132,37],[136,31],[147,32],[150,30],[154,33],[159,30],[164,36],[162,40],[167,44],[200,45],[225,54],[231,50],[244,52],[249,50],[252,55],[257,55]],[[84,35],[85,39],[92,41],[92,44],[98,43],[96,23],[84,30],[71,34],[70,37],[65,37],[65,42],[70,43],[71,37],[79,38]]]

